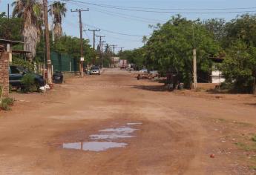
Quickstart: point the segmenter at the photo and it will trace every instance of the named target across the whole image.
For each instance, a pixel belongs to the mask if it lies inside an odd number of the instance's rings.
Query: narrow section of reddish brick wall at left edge
[[[0,85],[3,88],[2,95],[9,96],[9,53],[0,53]]]

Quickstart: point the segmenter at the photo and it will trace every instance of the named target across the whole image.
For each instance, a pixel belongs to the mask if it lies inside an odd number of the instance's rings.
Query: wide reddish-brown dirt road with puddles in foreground
[[[13,94],[0,174],[256,174],[256,105],[160,86],[105,70]]]

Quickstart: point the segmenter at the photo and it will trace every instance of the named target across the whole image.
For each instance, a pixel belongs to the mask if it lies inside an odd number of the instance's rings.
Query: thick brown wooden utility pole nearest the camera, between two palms
[[[44,16],[45,16],[45,47],[46,47],[46,57],[47,57],[47,83],[49,85],[53,84],[52,82],[52,70],[50,63],[50,39],[49,39],[49,27],[48,27],[48,6],[47,0],[43,1],[44,3]]]

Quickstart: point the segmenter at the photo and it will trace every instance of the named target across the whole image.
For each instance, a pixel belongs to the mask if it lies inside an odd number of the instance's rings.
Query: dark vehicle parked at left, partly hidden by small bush
[[[22,87],[22,77],[26,74],[26,73],[30,73],[28,72],[24,67],[22,66],[10,66],[9,67],[9,82],[10,85],[12,85],[12,87]],[[38,87],[42,87],[45,86],[45,79],[43,78],[43,76],[36,74],[36,73],[32,73],[33,76],[35,77],[35,83]]]

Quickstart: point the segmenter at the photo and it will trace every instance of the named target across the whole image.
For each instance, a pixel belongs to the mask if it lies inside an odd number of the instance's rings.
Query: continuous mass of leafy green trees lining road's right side
[[[224,19],[191,21],[173,16],[165,24],[150,26],[152,35],[145,45],[122,53],[139,67],[160,70],[177,70],[185,87],[192,82],[192,50],[197,48],[197,68],[210,73],[214,67],[223,72],[223,87],[233,92],[252,93],[256,78],[256,15],[237,16],[230,22]],[[223,58],[215,64],[211,58]]]

